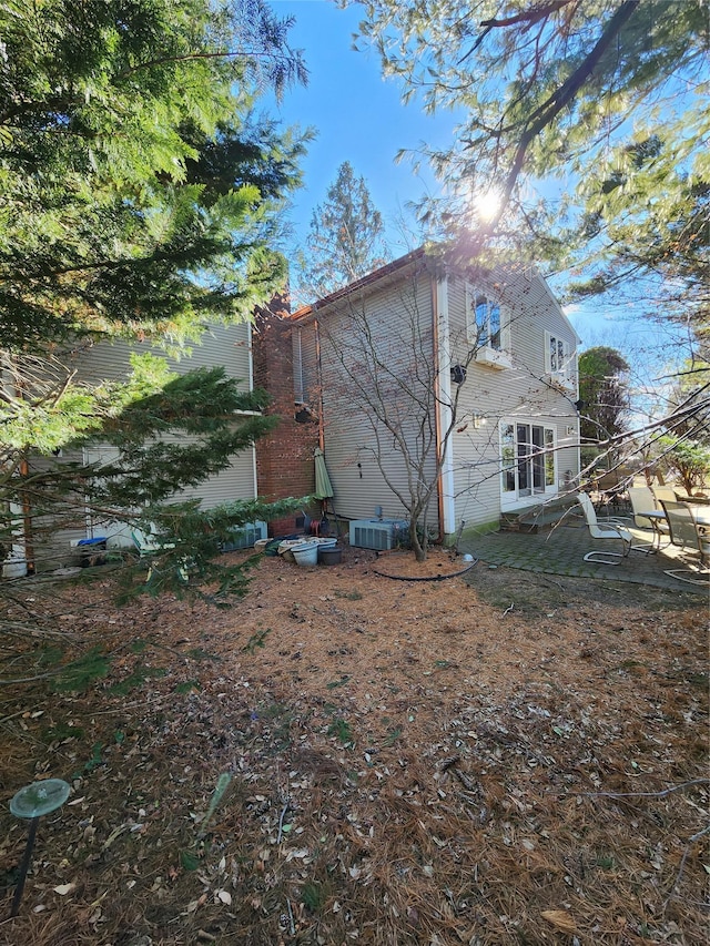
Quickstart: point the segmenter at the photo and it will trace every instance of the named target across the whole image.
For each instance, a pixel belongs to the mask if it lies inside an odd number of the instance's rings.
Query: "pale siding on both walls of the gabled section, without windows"
[[[467,339],[466,279],[455,275],[442,277],[433,293],[433,277],[426,267],[416,277],[412,273],[412,266],[394,271],[394,278],[387,274],[387,278],[354,287],[316,309],[320,374],[314,317],[301,323],[304,377],[320,377],[322,384],[322,421],[335,489],[334,506],[349,518],[371,518],[377,507],[387,518],[400,518],[404,513],[386,477],[395,490],[406,492],[407,465],[397,452],[395,438],[383,435],[382,426],[373,429],[368,421],[372,410],[364,404],[367,398],[358,394],[356,382],[341,364],[345,358],[352,369],[358,358],[363,359],[362,352],[357,352],[358,326],[366,316],[372,333],[367,345],[377,353],[383,368],[396,378],[412,379],[408,401],[404,398],[400,405],[403,429],[407,429],[413,443],[417,436],[429,438],[428,460],[422,471],[427,481],[435,476],[436,393],[442,431],[454,417],[442,477],[446,531],[454,532],[462,520],[467,529],[490,526],[498,522],[501,511],[499,425],[504,418],[555,429],[556,481],[549,486],[550,495],[566,474],[578,472],[576,378],[575,386],[566,393],[552,386],[549,365],[546,372],[549,338],[546,333],[566,339],[570,350],[578,339],[547,285],[535,273],[498,271],[488,277],[477,276],[473,285],[499,302],[506,321],[503,339],[507,366],[484,365],[475,359]],[[438,354],[433,333],[434,301]],[[460,385],[450,373],[456,365],[465,365],[467,369]],[[366,375],[364,372],[363,376]],[[383,383],[381,400],[390,410],[397,407],[400,396],[396,383]],[[417,417],[420,419],[423,413],[427,414],[427,421],[417,427]],[[378,468],[376,452],[383,457],[386,476]],[[429,505],[433,526],[438,519],[437,500],[435,495]],[[520,505],[535,501],[537,496],[521,500]]]

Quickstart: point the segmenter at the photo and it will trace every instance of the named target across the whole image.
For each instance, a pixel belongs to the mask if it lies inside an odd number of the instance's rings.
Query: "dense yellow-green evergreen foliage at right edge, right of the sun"
[[[694,355],[707,359],[710,174],[704,156],[689,163],[689,146],[676,123],[640,128],[585,179],[579,232],[591,252],[570,294],[630,297],[649,318],[687,327]]]

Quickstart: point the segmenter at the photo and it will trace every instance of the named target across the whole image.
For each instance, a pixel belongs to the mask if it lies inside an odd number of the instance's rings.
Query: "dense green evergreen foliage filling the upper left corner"
[[[285,26],[256,0],[48,0],[0,30],[2,347],[178,339],[267,301],[302,146],[250,118],[250,63],[296,70]]]

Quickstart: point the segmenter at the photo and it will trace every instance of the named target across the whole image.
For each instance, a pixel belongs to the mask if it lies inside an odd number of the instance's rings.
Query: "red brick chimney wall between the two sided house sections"
[[[301,497],[313,492],[313,450],[318,445],[318,426],[298,424],[293,394],[293,348],[291,321],[283,298],[256,313],[252,335],[254,387],[265,388],[272,397],[266,414],[276,414],[278,425],[256,444],[256,484],[258,496],[267,501]],[[270,536],[301,531],[294,513],[268,523]]]

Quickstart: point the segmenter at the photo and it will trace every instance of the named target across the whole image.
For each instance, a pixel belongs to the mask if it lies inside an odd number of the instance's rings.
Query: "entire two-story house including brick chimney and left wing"
[[[246,389],[265,387],[281,424],[183,496],[210,507],[306,495],[320,439],[338,516],[404,520],[414,510],[442,539],[497,528],[503,513],[546,502],[578,477],[578,340],[537,273],[453,265],[424,250],[291,317],[263,312],[255,326],[210,327],[172,366],[223,365]],[[97,345],[73,367],[88,382],[124,377],[141,347]],[[95,443],[65,459],[105,451]],[[20,560],[30,558],[26,512],[11,510]],[[81,518],[41,555],[34,548],[34,564],[61,564],[72,542],[97,532],[130,541],[121,522]]]

